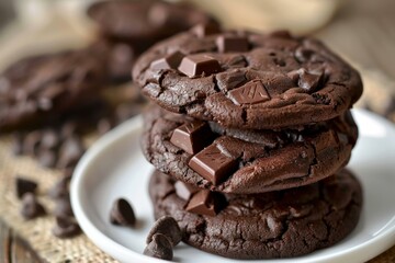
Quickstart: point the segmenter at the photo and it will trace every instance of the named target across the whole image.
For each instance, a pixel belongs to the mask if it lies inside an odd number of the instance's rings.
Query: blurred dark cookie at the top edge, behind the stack
[[[136,41],[146,46],[213,19],[187,3],[163,1],[101,1],[88,14],[106,37]]]

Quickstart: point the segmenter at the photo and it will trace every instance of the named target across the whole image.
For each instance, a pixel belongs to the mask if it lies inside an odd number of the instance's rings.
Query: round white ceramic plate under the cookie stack
[[[338,244],[297,259],[255,262],[364,262],[395,243],[395,128],[385,119],[353,111],[360,139],[350,168],[364,188],[364,206],[356,230]],[[154,224],[147,184],[153,167],[139,147],[142,119],[128,121],[98,140],[78,163],[71,182],[71,204],[86,235],[122,262],[165,262],[143,255]],[[137,229],[109,222],[113,201],[126,197],[139,219]],[[240,262],[181,243],[176,262]]]

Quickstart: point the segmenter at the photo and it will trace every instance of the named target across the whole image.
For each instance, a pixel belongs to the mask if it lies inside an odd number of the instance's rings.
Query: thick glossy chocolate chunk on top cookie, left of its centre
[[[216,59],[207,55],[196,54],[184,57],[178,69],[188,77],[193,78],[219,72],[221,66]]]

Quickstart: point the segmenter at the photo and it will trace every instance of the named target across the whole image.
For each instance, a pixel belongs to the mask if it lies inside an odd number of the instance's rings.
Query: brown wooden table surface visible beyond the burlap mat
[[[362,67],[379,70],[395,79],[394,13],[394,0],[350,0],[332,22],[317,31],[315,36]],[[0,263],[11,262],[35,263],[40,260],[0,220]],[[372,262],[382,261],[377,258]]]

